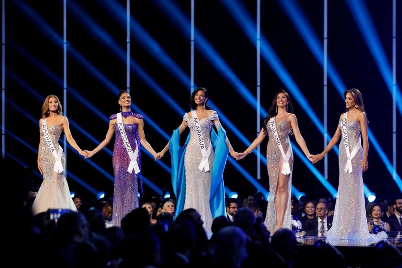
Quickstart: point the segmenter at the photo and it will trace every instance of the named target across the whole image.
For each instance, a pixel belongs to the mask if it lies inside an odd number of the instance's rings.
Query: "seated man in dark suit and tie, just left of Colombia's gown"
[[[306,221],[303,229],[308,231],[309,235],[325,236],[326,232],[332,227],[334,216],[327,216],[328,208],[324,202],[320,202],[316,207],[317,217]]]

